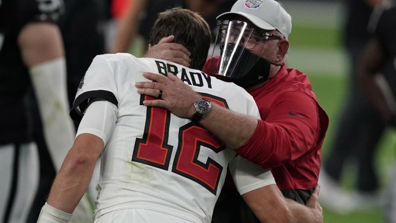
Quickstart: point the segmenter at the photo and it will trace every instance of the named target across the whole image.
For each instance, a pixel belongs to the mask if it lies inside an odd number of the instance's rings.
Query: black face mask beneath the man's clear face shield
[[[271,64],[274,63],[251,53],[240,45],[236,46],[235,43],[229,43],[227,46],[228,49],[234,49],[235,47],[237,48],[234,55],[240,56],[237,61],[231,61],[237,64],[232,71],[226,74],[226,80],[243,88],[251,87],[268,80]],[[221,47],[222,54],[223,48],[224,46]],[[279,66],[280,64],[274,65]]]

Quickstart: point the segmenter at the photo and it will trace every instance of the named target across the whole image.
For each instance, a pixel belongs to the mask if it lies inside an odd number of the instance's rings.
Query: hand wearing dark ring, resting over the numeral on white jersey
[[[155,82],[136,82],[137,92],[158,98],[156,100],[145,100],[143,101],[144,105],[164,107],[182,118],[190,119],[192,117],[194,102],[201,98],[200,94],[193,91],[171,73],[168,73],[168,77],[156,73],[143,73],[143,76]]]

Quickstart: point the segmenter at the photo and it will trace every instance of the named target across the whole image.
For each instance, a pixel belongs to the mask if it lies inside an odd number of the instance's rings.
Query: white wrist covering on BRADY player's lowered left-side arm
[[[70,218],[71,213],[66,213],[45,202],[44,206],[41,208],[37,223],[67,223]]]

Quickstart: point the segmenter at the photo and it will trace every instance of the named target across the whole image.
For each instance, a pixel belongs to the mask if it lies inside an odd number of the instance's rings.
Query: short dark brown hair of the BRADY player
[[[163,38],[174,35],[174,43],[179,43],[191,53],[190,68],[201,70],[208,57],[211,44],[211,29],[197,13],[180,7],[158,14],[151,29],[149,43],[154,46]]]

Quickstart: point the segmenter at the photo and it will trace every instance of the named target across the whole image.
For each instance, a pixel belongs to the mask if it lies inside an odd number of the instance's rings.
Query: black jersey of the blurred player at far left
[[[26,128],[28,115],[24,102],[30,77],[22,61],[17,38],[27,23],[54,21],[59,17],[60,8],[46,6],[51,3],[56,6],[61,2],[52,2],[3,0],[0,5],[0,36],[4,38],[0,44],[0,145],[32,140]]]

